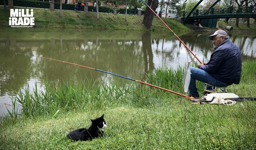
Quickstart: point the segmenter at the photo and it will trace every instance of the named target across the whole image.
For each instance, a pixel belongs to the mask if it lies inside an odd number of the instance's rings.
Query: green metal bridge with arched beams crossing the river
[[[220,0],[216,0],[207,10],[198,10],[196,7],[202,2],[200,0],[190,12],[183,12],[182,22],[193,23],[202,20],[213,20],[218,18],[256,18],[256,6],[213,8]]]

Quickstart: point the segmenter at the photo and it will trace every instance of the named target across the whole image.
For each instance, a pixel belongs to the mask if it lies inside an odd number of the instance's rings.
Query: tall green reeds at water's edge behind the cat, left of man
[[[56,116],[60,111],[83,109],[86,107],[103,108],[111,104],[122,102],[133,90],[133,86],[118,86],[116,83],[104,86],[96,86],[95,82],[56,82],[50,84],[44,82],[44,90],[38,90],[37,85],[32,93],[29,87],[20,90],[18,96],[12,99],[13,103],[20,107],[13,107],[9,114],[33,117],[40,115]]]

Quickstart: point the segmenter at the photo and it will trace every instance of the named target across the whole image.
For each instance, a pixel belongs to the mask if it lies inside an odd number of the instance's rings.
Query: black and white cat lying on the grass
[[[106,121],[104,120],[104,114],[99,118],[94,120],[91,119],[92,124],[89,128],[80,128],[74,131],[69,132],[67,138],[70,138],[74,141],[86,141],[92,140],[92,138],[97,138],[103,136],[104,128],[106,128]]]

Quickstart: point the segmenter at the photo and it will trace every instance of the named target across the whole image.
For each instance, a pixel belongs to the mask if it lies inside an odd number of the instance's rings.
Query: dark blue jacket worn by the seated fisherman
[[[225,39],[216,46],[207,65],[200,69],[226,84],[239,84],[242,72],[242,58],[238,46]]]

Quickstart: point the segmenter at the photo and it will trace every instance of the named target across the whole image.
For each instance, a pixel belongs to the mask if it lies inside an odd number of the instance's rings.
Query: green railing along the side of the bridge
[[[183,12],[183,17],[186,17],[189,12]],[[204,16],[213,14],[248,14],[256,13],[256,6],[248,7],[229,7],[229,8],[211,8],[208,10],[195,10],[190,16]]]

